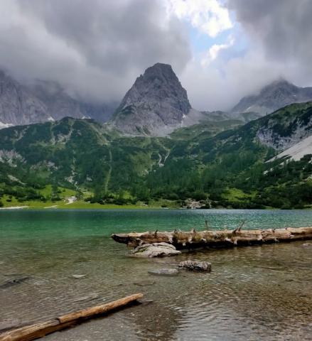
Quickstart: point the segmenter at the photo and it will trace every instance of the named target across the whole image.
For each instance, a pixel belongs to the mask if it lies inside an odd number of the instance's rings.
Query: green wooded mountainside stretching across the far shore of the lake
[[[220,121],[213,129],[197,124],[168,137],[126,137],[71,118],[2,129],[0,196],[26,200],[38,186],[56,183],[86,189],[97,202],[183,205],[190,198],[213,207],[305,207],[312,202],[309,149],[300,161],[272,158],[312,136],[311,118],[312,103],[306,103],[237,129],[222,131],[234,122]]]

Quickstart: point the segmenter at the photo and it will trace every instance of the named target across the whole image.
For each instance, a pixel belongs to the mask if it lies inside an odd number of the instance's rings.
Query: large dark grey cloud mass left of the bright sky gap
[[[97,99],[120,99],[157,62],[190,60],[183,25],[158,0],[4,0],[0,64],[19,77],[58,80]],[[1,4],[0,4],[1,6]]]

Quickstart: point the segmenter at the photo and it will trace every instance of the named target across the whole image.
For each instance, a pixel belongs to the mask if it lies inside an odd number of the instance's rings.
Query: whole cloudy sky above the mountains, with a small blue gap
[[[311,0],[1,0],[0,65],[99,102],[154,63],[196,109],[228,109],[279,77],[312,86]]]

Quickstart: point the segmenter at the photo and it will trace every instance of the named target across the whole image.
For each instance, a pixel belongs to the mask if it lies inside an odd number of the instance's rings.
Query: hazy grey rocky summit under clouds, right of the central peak
[[[264,116],[291,103],[311,100],[312,87],[296,87],[286,80],[279,80],[264,87],[259,94],[242,98],[232,113],[256,112]]]

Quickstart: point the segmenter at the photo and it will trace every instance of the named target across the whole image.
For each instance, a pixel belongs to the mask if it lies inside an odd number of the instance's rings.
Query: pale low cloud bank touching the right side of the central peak
[[[245,95],[279,78],[282,69],[282,65],[267,63],[261,50],[254,50],[208,65],[193,60],[181,75],[181,82],[195,109],[226,111]]]

